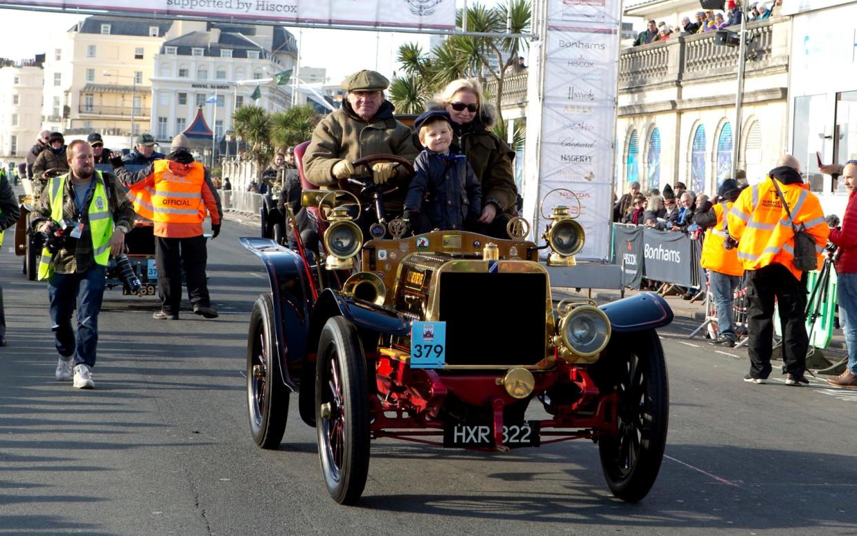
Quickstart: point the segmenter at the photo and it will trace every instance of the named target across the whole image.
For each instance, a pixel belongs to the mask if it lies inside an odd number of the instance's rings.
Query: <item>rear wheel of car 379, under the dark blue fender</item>
[[[289,414],[289,389],[279,372],[274,340],[273,300],[260,295],[250,314],[247,336],[247,408],[250,432],[262,449],[276,449],[283,440]]]

